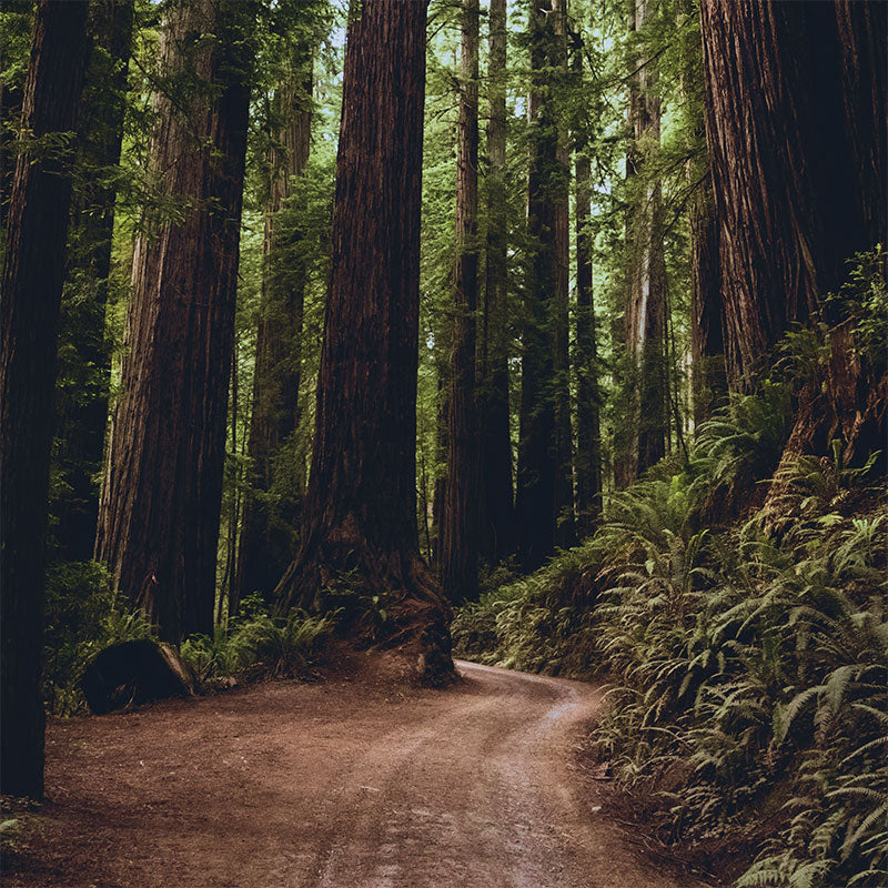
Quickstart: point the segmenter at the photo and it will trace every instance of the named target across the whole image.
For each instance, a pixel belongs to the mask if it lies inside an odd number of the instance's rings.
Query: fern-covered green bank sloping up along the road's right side
[[[605,675],[598,757],[652,800],[663,840],[755,848],[739,888],[885,885],[888,508],[875,455],[848,466],[836,442],[785,463],[777,529],[757,512],[700,526],[749,460],[776,466],[778,400],[726,407],[677,471],[612,496],[592,539],[463,607],[454,645]]]

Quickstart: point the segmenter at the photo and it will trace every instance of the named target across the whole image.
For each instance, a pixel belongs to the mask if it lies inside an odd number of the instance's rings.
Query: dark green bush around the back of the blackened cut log
[[[43,699],[52,715],[74,715],[85,702],[80,678],[100,650],[118,642],[154,637],[144,616],[119,603],[108,571],[95,562],[69,562],[47,573]]]

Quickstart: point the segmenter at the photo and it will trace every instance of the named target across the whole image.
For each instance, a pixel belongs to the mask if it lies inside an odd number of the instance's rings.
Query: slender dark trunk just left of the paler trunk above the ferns
[[[583,79],[583,52],[574,57],[577,84]],[[593,239],[589,231],[589,159],[585,139],[576,140],[576,512],[577,531],[588,536],[602,514],[602,430],[598,342],[592,284]]]

